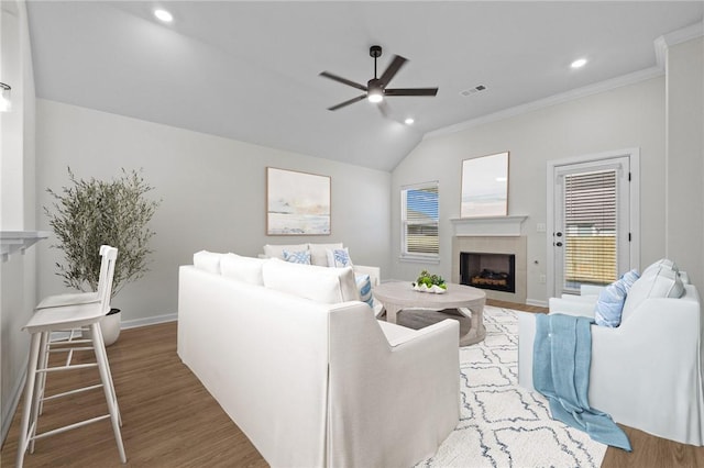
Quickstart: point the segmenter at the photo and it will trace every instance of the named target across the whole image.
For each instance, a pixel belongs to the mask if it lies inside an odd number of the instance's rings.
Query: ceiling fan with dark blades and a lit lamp
[[[436,96],[438,93],[438,88],[395,88],[389,89],[386,88],[388,82],[396,76],[400,67],[404,66],[407,58],[402,57],[400,55],[395,55],[391,65],[384,70],[381,77],[376,78],[376,59],[382,56],[382,46],[373,45],[370,47],[370,56],[374,57],[374,78],[366,82],[366,86],[360,85],[359,82],[351,81],[346,78],[339,77],[337,75],[331,74],[330,71],[322,71],[320,74],[321,77],[330,78],[332,80],[339,81],[343,85],[351,86],[352,88],[356,88],[359,90],[364,91],[365,93],[362,96],[358,96],[356,98],[352,98],[349,101],[341,102],[337,105],[328,108],[329,111],[337,111],[340,108],[344,108],[345,105],[353,104],[363,99],[369,99],[370,102],[374,102],[378,105],[380,111],[384,114],[388,114],[388,108],[386,105],[385,97],[392,96]]]

